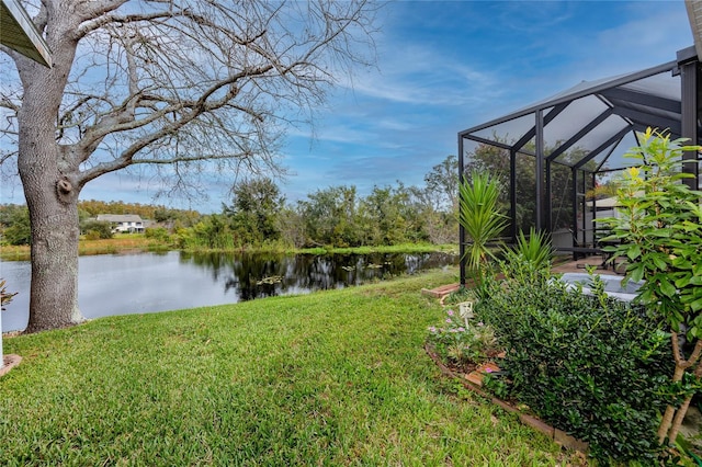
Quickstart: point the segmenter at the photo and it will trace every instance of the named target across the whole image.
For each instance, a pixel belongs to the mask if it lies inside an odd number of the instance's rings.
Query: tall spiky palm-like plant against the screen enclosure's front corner
[[[471,240],[465,251],[466,264],[480,275],[488,259],[495,259],[489,241],[498,238],[509,224],[499,210],[500,183],[488,172],[474,171],[458,185],[458,223]]]

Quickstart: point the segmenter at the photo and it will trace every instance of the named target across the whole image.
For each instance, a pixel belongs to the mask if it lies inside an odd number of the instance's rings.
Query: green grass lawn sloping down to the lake
[[[424,354],[455,273],[5,338],[0,465],[566,463]]]

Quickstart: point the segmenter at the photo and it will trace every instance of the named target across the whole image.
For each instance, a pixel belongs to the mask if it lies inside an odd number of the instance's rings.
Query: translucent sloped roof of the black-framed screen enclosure
[[[695,57],[693,47],[678,53],[680,57]],[[543,150],[550,160],[580,167],[573,155],[601,161],[602,170],[631,164],[621,157],[631,141],[646,127],[669,130],[673,138],[682,133],[681,80],[679,61],[672,60],[643,70],[582,81],[574,87],[536,101],[502,117],[458,133],[461,138],[482,144],[497,143],[500,147],[520,152],[533,152],[536,116],[543,116]],[[702,132],[700,132],[702,134]],[[585,163],[585,162],[584,162]],[[612,167],[615,163],[616,167]],[[624,166],[620,166],[620,164]]]

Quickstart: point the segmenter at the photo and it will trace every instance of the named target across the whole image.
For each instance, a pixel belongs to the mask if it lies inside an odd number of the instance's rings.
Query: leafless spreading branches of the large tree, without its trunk
[[[35,21],[55,8],[43,0]],[[79,25],[70,33],[80,45],[56,140],[63,170],[80,167],[72,178],[81,186],[132,163],[270,158],[273,135],[312,118],[338,70],[367,62],[355,47],[370,37],[374,11],[366,0],[73,8]],[[0,101],[19,111],[11,104]],[[238,150],[207,150],[236,148],[239,139]]]

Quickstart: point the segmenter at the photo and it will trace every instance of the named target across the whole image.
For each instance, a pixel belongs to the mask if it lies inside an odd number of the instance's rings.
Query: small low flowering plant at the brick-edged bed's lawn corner
[[[429,342],[442,360],[461,369],[486,362],[499,352],[491,327],[483,322],[466,326],[453,309],[446,310],[443,326],[429,327]]]

